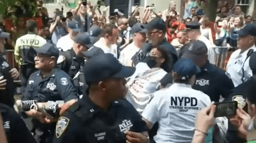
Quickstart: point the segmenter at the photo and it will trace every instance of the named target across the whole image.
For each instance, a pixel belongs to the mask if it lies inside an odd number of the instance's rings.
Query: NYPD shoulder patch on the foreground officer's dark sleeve
[[[55,131],[55,135],[57,138],[59,138],[62,133],[65,131],[65,129],[67,128],[69,123],[69,119],[66,117],[60,117],[58,119],[58,122],[56,124],[56,131]]]

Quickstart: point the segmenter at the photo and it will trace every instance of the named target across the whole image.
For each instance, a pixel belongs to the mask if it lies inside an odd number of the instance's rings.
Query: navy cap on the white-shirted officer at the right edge
[[[256,24],[249,23],[244,26],[244,28],[235,31],[235,34],[238,34],[239,37],[252,35],[256,37]]]

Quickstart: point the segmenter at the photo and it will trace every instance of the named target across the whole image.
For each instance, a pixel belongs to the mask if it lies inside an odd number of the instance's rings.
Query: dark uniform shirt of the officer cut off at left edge
[[[16,87],[14,86],[13,78],[10,73],[11,69],[12,68],[9,66],[7,61],[0,54],[0,77],[4,76],[4,79],[7,80],[5,90],[1,90],[0,92],[0,103],[4,103],[9,105],[10,107],[13,107],[13,104],[14,104],[13,96],[14,96]]]

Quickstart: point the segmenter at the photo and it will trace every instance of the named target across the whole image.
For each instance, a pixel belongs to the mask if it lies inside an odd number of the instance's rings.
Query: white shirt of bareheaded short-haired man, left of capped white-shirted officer
[[[104,51],[104,53],[113,54],[114,57],[117,58],[117,52],[118,52],[117,45],[113,44],[113,45],[107,46],[106,40],[103,37],[101,37],[96,43],[94,43],[94,46],[101,48]]]

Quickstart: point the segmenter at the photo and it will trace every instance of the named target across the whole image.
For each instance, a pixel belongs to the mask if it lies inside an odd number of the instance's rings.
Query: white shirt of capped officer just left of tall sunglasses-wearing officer
[[[119,61],[125,66],[132,66],[131,58],[140,50],[139,47],[134,45],[134,42],[127,45],[121,52]]]

